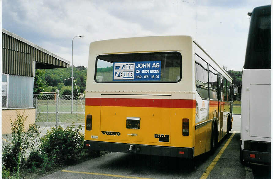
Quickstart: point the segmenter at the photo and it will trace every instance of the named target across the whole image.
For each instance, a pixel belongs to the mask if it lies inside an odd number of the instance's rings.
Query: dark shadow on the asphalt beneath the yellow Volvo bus
[[[110,170],[124,171],[132,175],[141,174],[143,176],[148,176],[152,173],[163,175],[183,174],[183,177],[192,178],[194,177],[193,173],[197,170],[203,171],[202,165],[204,163],[212,162],[221,150],[223,143],[226,142],[230,135],[231,134],[226,135],[226,137],[219,142],[215,152],[206,152],[195,157],[194,165],[191,163],[193,160],[183,158],[124,153],[123,155],[118,155],[114,159],[110,159],[107,163],[103,163],[100,167]],[[109,154],[111,155],[111,153]],[[204,170],[206,170],[206,168]]]

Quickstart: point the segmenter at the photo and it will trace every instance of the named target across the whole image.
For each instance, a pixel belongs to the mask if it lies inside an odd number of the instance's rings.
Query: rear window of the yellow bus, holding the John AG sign
[[[99,55],[96,82],[179,82],[182,74],[179,52]]]

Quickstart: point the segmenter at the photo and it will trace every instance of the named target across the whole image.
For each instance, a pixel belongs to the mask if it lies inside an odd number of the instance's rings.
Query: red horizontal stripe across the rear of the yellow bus
[[[138,99],[138,98],[85,98],[86,106],[126,106],[155,108],[195,108],[195,100]]]

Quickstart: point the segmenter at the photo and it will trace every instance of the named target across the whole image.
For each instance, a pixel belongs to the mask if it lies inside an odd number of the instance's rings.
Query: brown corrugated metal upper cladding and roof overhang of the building
[[[33,76],[36,69],[68,68],[69,61],[2,28],[2,73]]]

